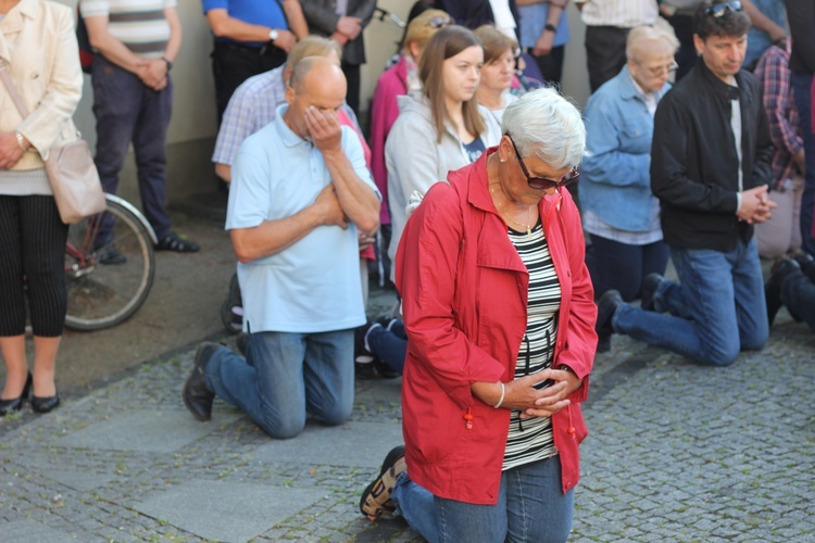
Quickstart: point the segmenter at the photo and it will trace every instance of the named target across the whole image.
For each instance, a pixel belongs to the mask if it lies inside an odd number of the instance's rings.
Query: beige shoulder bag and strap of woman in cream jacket
[[[0,59],[0,78],[9,89],[9,94],[20,110],[20,114],[23,118],[27,117],[28,109],[11,80],[8,66],[2,59]],[[78,131],[74,141],[51,148],[46,161],[46,172],[63,223],[66,225],[78,223],[85,217],[104,211],[104,191],[99,180],[99,172],[93,164],[88,143]]]

